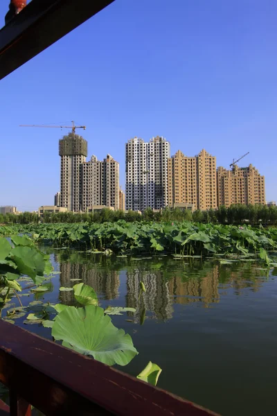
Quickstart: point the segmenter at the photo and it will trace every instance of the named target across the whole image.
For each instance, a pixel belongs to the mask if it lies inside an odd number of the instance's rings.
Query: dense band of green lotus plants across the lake
[[[274,250],[276,228],[189,222],[38,224],[0,227],[1,235],[29,234],[34,242],[111,254],[181,254],[238,256]]]

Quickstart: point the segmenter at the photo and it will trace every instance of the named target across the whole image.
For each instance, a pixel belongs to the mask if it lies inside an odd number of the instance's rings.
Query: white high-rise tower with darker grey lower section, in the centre
[[[170,144],[163,137],[149,143],[134,137],[125,145],[126,209],[143,211],[168,205],[168,157]]]

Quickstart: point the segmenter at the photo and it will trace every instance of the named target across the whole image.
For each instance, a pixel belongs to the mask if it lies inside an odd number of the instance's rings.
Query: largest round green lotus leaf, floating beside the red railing
[[[64,347],[107,365],[127,365],[138,354],[129,334],[114,327],[99,306],[64,309],[55,318],[52,336]]]

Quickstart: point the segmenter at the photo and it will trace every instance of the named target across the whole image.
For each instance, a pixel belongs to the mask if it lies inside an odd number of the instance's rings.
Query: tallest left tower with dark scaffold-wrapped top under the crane
[[[74,132],[59,141],[61,157],[61,207],[78,212],[82,209],[82,164],[86,162],[87,140]]]

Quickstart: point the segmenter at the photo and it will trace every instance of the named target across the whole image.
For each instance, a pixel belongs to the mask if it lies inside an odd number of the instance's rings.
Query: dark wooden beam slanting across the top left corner
[[[113,1],[30,1],[0,30],[0,80]]]

